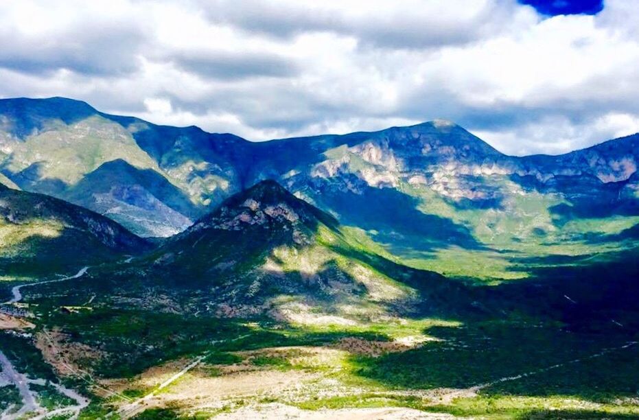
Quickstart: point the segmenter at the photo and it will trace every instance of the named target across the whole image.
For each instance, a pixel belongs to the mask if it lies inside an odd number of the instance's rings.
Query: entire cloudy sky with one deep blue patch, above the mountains
[[[3,0],[0,97],[249,140],[448,119],[508,154],[639,132],[639,0]]]

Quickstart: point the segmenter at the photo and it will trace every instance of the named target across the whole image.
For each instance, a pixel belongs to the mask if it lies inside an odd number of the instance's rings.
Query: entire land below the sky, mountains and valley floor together
[[[637,135],[0,117],[2,418],[639,417]]]

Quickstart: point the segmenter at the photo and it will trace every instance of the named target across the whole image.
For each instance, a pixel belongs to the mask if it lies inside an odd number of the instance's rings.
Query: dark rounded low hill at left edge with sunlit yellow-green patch
[[[42,194],[0,185],[0,271],[39,275],[150,249],[103,215]]]

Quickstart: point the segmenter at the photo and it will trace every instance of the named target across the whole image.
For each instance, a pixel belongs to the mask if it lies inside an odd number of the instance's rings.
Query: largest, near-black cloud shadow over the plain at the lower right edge
[[[634,397],[639,389],[634,375],[639,345],[631,345],[639,337],[636,255],[531,268],[530,279],[496,286],[391,268],[393,278],[421,294],[413,318],[454,319],[463,326],[426,329],[440,341],[404,353],[352,355],[355,371],[393,389],[470,388],[526,373],[480,393],[604,402]],[[380,270],[392,265],[383,259],[369,263]]]

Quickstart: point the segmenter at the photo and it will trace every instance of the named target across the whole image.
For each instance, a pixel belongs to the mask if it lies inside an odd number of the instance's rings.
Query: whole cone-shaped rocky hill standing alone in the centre
[[[196,307],[218,316],[267,313],[321,323],[370,320],[388,307],[408,312],[417,303],[415,290],[373,268],[369,259],[335,218],[264,180],[138,264],[152,267],[145,277],[168,290],[203,291]]]

